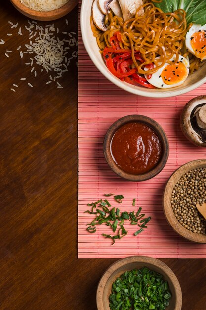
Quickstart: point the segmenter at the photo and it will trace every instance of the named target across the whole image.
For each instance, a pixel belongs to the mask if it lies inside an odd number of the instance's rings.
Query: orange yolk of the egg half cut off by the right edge
[[[198,31],[193,33],[190,38],[191,47],[195,52],[195,56],[200,59],[206,57],[206,31]]]

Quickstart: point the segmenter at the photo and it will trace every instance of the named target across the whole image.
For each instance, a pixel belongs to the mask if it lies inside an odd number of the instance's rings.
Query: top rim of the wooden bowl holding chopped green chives
[[[97,293],[96,293],[96,303],[97,303],[97,309],[98,310],[104,310],[104,304],[103,304],[103,293],[104,293],[104,287],[110,278],[110,276],[117,271],[119,268],[123,267],[124,265],[127,265],[129,263],[148,263],[151,265],[156,266],[157,268],[161,269],[163,273],[167,275],[167,277],[170,279],[171,283],[174,286],[174,292],[175,292],[175,308],[174,310],[181,310],[182,307],[182,290],[179,284],[179,281],[174,274],[174,272],[161,260],[157,258],[151,258],[149,256],[129,256],[126,258],[119,259],[118,261],[115,261],[111,266],[109,266],[104,274],[102,275],[98,287],[97,287]],[[161,272],[160,272],[161,273]],[[161,274],[163,274],[161,273]],[[164,274],[163,274],[164,276]]]

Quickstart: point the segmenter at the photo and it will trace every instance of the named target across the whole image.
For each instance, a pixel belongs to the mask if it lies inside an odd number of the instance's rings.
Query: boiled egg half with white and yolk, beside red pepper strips
[[[158,59],[160,57],[156,58],[157,61]],[[171,88],[182,85],[188,77],[190,63],[185,57],[180,55],[176,62],[175,59],[176,56],[174,55],[169,59],[171,64],[165,62],[162,68],[158,69],[152,76],[150,75],[151,77],[145,74],[146,80],[158,88]],[[156,66],[154,65],[154,67]],[[145,68],[144,70],[148,71],[149,69]]]

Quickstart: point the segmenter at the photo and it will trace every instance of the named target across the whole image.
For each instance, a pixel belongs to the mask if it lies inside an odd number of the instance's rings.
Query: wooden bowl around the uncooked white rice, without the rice
[[[71,12],[78,3],[78,0],[69,0],[69,2],[67,2],[62,7],[56,10],[48,11],[48,12],[40,12],[40,11],[31,10],[30,8],[22,4],[19,0],[10,0],[10,1],[15,6],[15,8],[23,15],[31,19],[41,20],[41,21],[50,21],[50,20],[61,18],[67,15],[69,12]]]

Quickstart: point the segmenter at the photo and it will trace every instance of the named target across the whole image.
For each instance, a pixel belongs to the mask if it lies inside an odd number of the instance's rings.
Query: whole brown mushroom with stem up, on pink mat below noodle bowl
[[[206,95],[195,97],[185,105],[180,125],[191,142],[206,147]]]

